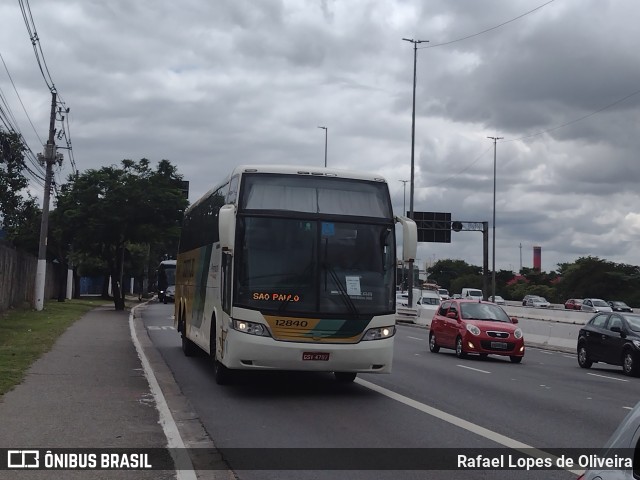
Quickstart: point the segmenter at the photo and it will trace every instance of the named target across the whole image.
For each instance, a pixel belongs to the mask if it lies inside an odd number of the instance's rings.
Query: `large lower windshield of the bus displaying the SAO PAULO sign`
[[[308,314],[383,314],[394,308],[393,228],[244,216],[235,304]]]

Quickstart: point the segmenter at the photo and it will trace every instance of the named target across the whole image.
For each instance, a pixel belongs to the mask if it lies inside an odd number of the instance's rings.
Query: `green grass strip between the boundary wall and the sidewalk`
[[[24,379],[26,371],[58,337],[85,313],[100,305],[101,298],[46,302],[43,310],[12,309],[0,314],[0,399]]]

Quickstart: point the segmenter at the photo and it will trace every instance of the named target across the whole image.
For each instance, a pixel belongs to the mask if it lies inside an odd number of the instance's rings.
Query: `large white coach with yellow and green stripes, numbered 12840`
[[[215,381],[233,370],[389,373],[395,334],[395,223],[414,259],[416,225],[394,217],[366,173],[240,166],[185,212],[175,326]]]

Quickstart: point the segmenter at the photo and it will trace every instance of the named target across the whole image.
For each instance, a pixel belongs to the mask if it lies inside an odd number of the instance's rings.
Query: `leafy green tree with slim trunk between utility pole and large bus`
[[[182,176],[168,160],[156,170],[144,158],[121,164],[70,178],[56,203],[61,232],[72,233],[70,248],[105,262],[116,310],[124,309],[125,260],[132,258],[128,246],[175,244],[188,203]]]

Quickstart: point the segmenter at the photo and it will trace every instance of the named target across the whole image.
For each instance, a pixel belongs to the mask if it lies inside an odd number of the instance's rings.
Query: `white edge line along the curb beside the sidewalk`
[[[142,349],[142,345],[140,345],[140,340],[138,340],[138,335],[136,334],[136,328],[133,324],[135,311],[139,305],[136,305],[131,309],[129,313],[129,331],[131,332],[131,339],[133,340],[133,344],[136,347],[136,351],[138,352],[138,357],[140,358],[140,362],[142,363],[142,368],[144,369],[144,375],[147,377],[147,382],[149,383],[149,389],[153,394],[153,398],[156,402],[156,408],[158,409],[158,415],[160,417],[160,425],[162,425],[162,429],[164,430],[164,435],[167,437],[167,447],[172,452],[173,456],[174,449],[180,449],[179,451],[184,451],[182,449],[185,448],[184,441],[180,436],[180,432],[178,431],[178,426],[176,425],[175,420],[173,419],[173,415],[171,415],[171,410],[169,410],[169,406],[167,405],[167,400],[164,398],[162,390],[160,389],[160,385],[158,384],[158,379],[153,373],[153,369],[151,368],[151,364],[149,363],[149,359],[144,354],[144,350]],[[177,458],[174,457],[174,460],[177,461]],[[191,462],[188,458],[181,458],[181,462]],[[191,465],[191,469],[189,470],[176,470],[176,479],[177,480],[197,480],[196,472]]]

